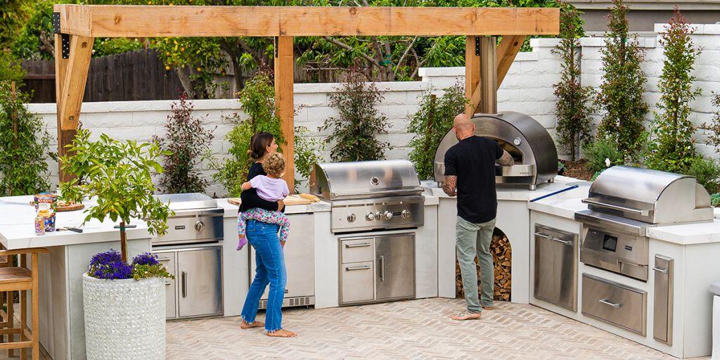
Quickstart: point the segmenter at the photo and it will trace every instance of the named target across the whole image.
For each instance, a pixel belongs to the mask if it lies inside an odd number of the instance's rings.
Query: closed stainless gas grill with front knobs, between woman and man
[[[423,188],[410,161],[316,164],[310,192],[330,202],[333,233],[423,225]]]

